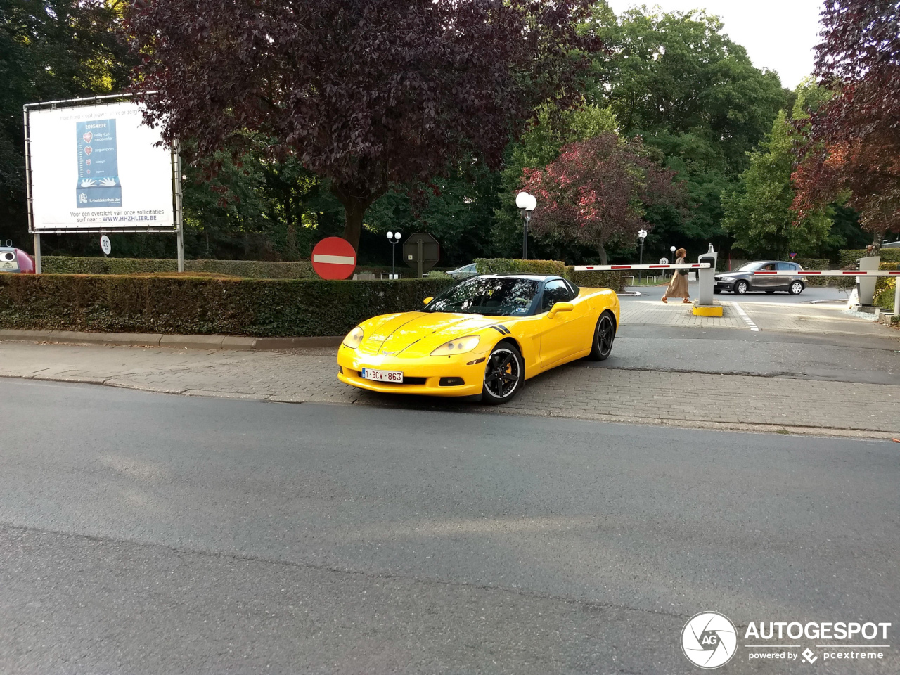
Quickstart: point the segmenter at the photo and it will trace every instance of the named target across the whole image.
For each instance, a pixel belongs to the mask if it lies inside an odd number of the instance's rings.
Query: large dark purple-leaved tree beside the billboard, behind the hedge
[[[579,99],[590,0],[137,0],[134,87],[199,157],[250,135],[331,179],[358,247],[390,184],[500,165],[538,103]]]

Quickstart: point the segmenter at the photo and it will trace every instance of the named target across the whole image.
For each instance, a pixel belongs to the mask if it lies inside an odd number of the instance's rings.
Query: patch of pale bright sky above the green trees
[[[725,24],[725,33],[747,49],[753,65],[776,70],[793,89],[813,72],[813,48],[820,42],[822,0],[607,0],[617,14],[635,4],[666,12],[705,9]]]

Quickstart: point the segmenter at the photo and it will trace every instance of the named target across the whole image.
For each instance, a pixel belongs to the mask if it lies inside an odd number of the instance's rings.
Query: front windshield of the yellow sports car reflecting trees
[[[534,279],[478,276],[466,279],[428,303],[425,311],[509,317],[527,314],[537,294]]]

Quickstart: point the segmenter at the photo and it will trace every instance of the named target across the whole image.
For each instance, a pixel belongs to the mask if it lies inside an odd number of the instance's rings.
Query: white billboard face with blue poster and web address
[[[176,228],[174,157],[137,103],[26,111],[33,231]]]

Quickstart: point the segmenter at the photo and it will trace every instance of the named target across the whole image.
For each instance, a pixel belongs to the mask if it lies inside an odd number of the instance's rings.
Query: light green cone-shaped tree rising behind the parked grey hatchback
[[[741,176],[742,187],[723,199],[723,225],[734,237],[734,247],[753,257],[784,259],[788,253],[800,257],[814,254],[826,242],[832,226],[832,207],[811,211],[794,224],[791,129],[787,113],[779,112],[770,136],[750,156],[750,167]]]

